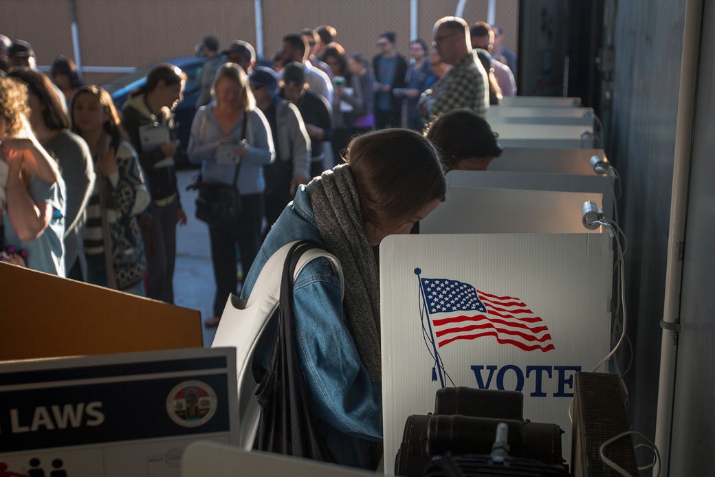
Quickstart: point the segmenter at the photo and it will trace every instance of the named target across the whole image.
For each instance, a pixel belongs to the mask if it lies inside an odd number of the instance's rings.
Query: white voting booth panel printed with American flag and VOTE
[[[608,353],[608,234],[393,235],[380,245],[385,473],[444,386],[518,390],[571,455],[575,374]]]

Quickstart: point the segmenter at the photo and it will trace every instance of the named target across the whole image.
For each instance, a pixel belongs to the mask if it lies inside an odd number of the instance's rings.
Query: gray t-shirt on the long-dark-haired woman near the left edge
[[[42,145],[59,164],[66,187],[64,263],[69,271],[83,247],[84,208],[87,207],[94,184],[92,154],[82,137],[66,129]]]

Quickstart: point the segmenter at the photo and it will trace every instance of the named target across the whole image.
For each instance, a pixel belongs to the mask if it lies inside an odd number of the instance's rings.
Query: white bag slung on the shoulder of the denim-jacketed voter
[[[301,245],[300,250],[297,250],[297,247]],[[277,338],[273,363],[265,375],[259,376],[260,373],[254,372],[252,366],[257,343],[259,343],[259,340],[267,330],[272,330],[269,327],[269,323],[272,324],[275,321],[280,323],[287,316],[285,311],[280,310],[280,305],[287,304],[288,308],[292,308],[292,300],[287,301],[284,296],[287,296],[289,292],[292,294],[293,280],[300,275],[300,272],[307,264],[317,258],[324,258],[330,263],[332,270],[340,281],[340,296],[342,298],[345,291],[345,281],[342,279],[340,261],[337,260],[335,255],[331,255],[325,252],[322,247],[316,246],[315,242],[306,241],[290,242],[276,250],[263,265],[250,296],[246,300],[241,300],[235,295],[228,297],[219,327],[216,330],[212,348],[225,346],[236,348],[237,422],[240,447],[245,451],[258,447],[280,452],[280,449],[290,448],[291,453],[293,453],[294,449],[296,451],[302,449],[302,443],[305,442],[306,438],[308,441],[320,441],[322,439],[320,434],[313,432],[317,431],[315,429],[315,420],[307,419],[306,426],[312,426],[310,428],[313,431],[305,431],[309,427],[303,426],[302,423],[302,419],[310,416],[310,402],[307,400],[307,394],[305,393],[305,378],[303,378],[300,362],[297,361],[297,355],[292,355],[294,358],[292,358],[291,364],[295,367],[292,371],[284,368],[279,373],[277,370],[278,364],[282,363],[282,353],[279,348],[285,346],[286,336],[291,336],[292,340],[295,339],[293,333],[289,335],[283,333],[282,338]],[[295,265],[296,263],[297,265]],[[292,324],[288,323],[288,325]],[[277,326],[275,328],[277,329]],[[285,330],[285,325],[283,330]],[[295,348],[292,349],[295,351]],[[286,376],[286,373],[291,378],[290,382],[287,378],[285,380],[278,379],[280,375]],[[294,395],[297,393],[297,380],[303,383],[300,399],[288,400],[291,392]],[[257,392],[257,390],[259,391]],[[287,405],[300,406],[302,411],[298,412],[296,409],[295,412],[289,413],[290,410],[284,409]],[[282,412],[283,410],[285,410],[285,413]],[[294,415],[297,416],[295,420],[296,427],[293,427],[293,421],[290,421],[290,417]],[[261,429],[260,432],[259,428]],[[274,429],[285,430],[285,433],[281,433],[278,436],[277,433],[270,432]],[[292,445],[295,441],[292,438],[292,433],[295,432],[305,436],[302,437],[303,441],[299,443],[301,445]],[[260,447],[256,443],[257,434],[262,436],[259,438],[261,441]],[[275,439],[275,446],[267,445],[270,444],[270,439]],[[287,439],[290,439],[290,446],[287,443]],[[295,442],[298,443],[298,441]],[[322,448],[322,445],[320,448]],[[299,454],[293,453],[293,455]],[[328,458],[328,453],[312,453],[312,455],[316,456],[316,458],[320,456]]]

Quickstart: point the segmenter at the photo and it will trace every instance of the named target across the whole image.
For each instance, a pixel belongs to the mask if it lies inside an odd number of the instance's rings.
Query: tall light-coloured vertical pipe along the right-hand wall
[[[683,280],[683,253],[685,226],[688,212],[688,192],[693,148],[693,127],[698,80],[698,62],[703,15],[703,0],[687,0],[683,51],[678,94],[678,121],[676,123],[675,157],[673,166],[673,192],[668,233],[668,269],[663,310],[663,337],[661,339],[661,367],[658,387],[658,412],[656,414],[656,446],[661,453],[661,463],[654,475],[667,477],[670,471],[671,432],[676,379],[676,358],[680,322],[680,298]],[[687,403],[684,403],[687,405]]]

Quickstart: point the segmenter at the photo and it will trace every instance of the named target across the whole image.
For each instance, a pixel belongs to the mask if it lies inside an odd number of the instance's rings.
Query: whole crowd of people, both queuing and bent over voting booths
[[[268,62],[243,40],[221,50],[207,36],[199,47],[207,60],[187,156],[201,170],[197,217],[209,226],[217,288],[205,324],[219,323],[230,293],[247,298],[287,242],[337,255],[345,302],[319,263],[294,300],[312,405],[338,463],[372,466],[382,438],[376,247],[438,206],[446,171],[485,169],[501,154],[482,116],[516,94],[502,39],[445,17],[433,47],[415,39],[409,59],[391,31],[371,61],[348,54],[332,26],[287,34]],[[2,260],[173,303],[177,225],[187,221],[173,115],[184,72],[158,64],[119,112],[71,59],[55,59],[49,76],[36,70],[26,41],[0,36],[0,69]],[[267,369],[270,338],[260,348]]]

